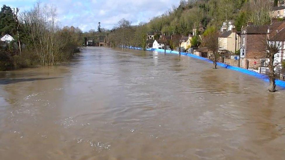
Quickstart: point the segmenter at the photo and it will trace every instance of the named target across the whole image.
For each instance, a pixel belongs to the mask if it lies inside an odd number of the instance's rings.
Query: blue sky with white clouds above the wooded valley
[[[20,11],[29,10],[37,0],[0,0],[11,8]],[[179,0],[41,0],[42,4],[57,8],[62,26],[79,27],[83,31],[97,30],[101,27],[112,29],[122,18],[132,22],[148,22],[152,17],[165,13],[173,5],[178,6]]]

